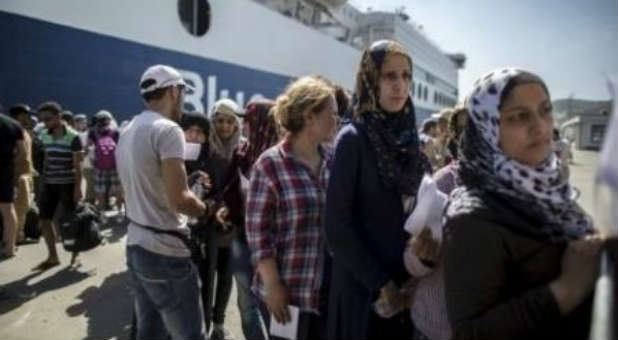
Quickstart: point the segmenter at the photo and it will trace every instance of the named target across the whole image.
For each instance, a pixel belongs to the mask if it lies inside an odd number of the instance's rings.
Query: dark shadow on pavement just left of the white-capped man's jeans
[[[70,317],[88,318],[88,335],[84,339],[128,339],[133,310],[127,272],[108,276],[100,286],[90,286],[66,309]]]

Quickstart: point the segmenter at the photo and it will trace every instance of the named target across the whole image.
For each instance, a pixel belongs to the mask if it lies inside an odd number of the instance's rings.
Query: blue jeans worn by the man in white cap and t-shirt
[[[190,258],[127,247],[135,293],[136,338],[205,339],[200,282]]]

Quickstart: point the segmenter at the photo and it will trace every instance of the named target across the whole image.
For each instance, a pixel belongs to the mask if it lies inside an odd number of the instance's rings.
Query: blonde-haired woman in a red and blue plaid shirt
[[[297,339],[324,338],[329,152],[321,144],[333,138],[337,103],[327,81],[303,77],[277,98],[274,110],[288,134],[259,157],[247,194],[253,291],[279,322],[290,320],[288,305],[299,307]]]

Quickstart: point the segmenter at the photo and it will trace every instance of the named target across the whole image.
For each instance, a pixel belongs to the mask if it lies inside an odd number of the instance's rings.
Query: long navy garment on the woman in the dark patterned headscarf
[[[326,240],[333,258],[329,336],[362,339],[371,333],[372,304],[388,281],[403,283],[409,235],[401,194],[379,177],[364,125],[338,134],[326,198]]]

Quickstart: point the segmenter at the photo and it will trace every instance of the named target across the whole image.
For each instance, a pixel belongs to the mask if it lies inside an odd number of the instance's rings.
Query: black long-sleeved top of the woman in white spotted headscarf
[[[587,338],[592,296],[562,317],[549,289],[566,244],[522,235],[536,223],[497,197],[450,220],[445,289],[456,339]],[[514,224],[520,224],[517,228]],[[521,224],[524,224],[522,226]]]

